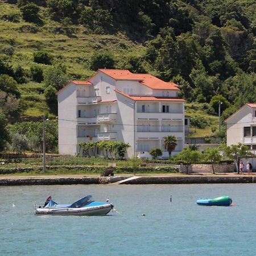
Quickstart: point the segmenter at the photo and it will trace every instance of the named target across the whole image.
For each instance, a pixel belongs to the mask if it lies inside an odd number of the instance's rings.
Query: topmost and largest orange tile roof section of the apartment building
[[[131,80],[139,81],[141,84],[148,86],[151,89],[160,90],[179,90],[174,82],[164,82],[150,74],[134,74],[126,69],[99,69],[99,71],[112,77],[115,80]]]

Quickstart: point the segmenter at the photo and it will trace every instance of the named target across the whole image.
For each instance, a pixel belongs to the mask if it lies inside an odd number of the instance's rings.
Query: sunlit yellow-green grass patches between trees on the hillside
[[[11,58],[12,65],[21,65],[28,72],[32,65],[33,53],[46,51],[53,55],[53,64],[64,64],[67,73],[75,79],[87,79],[95,72],[89,69],[89,60],[95,51],[108,51],[115,59],[116,68],[122,68],[127,56],[143,56],[146,47],[143,44],[130,40],[125,33],[95,35],[83,26],[70,26],[73,34],[64,31],[61,23],[50,20],[42,9],[41,16],[44,24],[37,26],[33,23],[24,22],[20,10],[15,5],[0,1],[0,44],[14,48],[14,55]],[[3,20],[3,16],[16,14],[16,22]],[[10,32],[11,31],[11,32]],[[49,65],[37,64],[45,71]],[[156,75],[149,65],[145,65],[147,72]],[[19,85],[22,95],[21,117],[34,119],[42,115],[50,115],[42,89],[44,84],[28,81]],[[35,100],[38,97],[38,100]],[[202,104],[186,104],[185,115],[201,115],[207,117],[210,122],[205,129],[192,129],[193,137],[201,137],[211,133],[210,127],[217,125],[216,115],[207,113],[202,109]],[[54,116],[51,114],[51,116]]]

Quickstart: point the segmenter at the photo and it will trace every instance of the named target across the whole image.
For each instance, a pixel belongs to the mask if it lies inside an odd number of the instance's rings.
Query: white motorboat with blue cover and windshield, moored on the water
[[[76,201],[73,204],[57,204],[49,196],[43,207],[35,209],[35,214],[52,214],[52,215],[105,215],[114,208],[114,205],[106,202],[98,202],[88,195]]]

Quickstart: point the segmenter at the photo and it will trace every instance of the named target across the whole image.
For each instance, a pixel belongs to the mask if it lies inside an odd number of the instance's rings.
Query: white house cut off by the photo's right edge
[[[225,120],[227,145],[242,143],[256,152],[256,104],[248,103]]]

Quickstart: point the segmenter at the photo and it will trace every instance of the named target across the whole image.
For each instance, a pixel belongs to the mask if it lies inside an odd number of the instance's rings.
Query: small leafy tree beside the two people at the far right
[[[248,150],[248,147],[242,143],[236,145],[225,146],[224,153],[228,158],[234,160],[237,168],[237,174],[239,174],[239,163],[241,158],[249,158],[255,156],[251,151]]]

